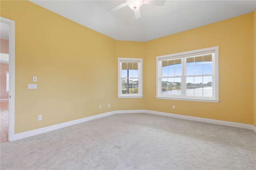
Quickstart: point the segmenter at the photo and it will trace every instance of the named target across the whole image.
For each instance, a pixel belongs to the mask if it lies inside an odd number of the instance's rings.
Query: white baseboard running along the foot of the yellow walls
[[[82,118],[82,119],[77,119],[77,120],[74,120],[74,121],[69,121],[69,122],[60,123],[60,124],[57,124],[57,125],[52,125],[52,126],[49,126],[49,127],[38,128],[38,129],[35,129],[35,130],[30,130],[30,131],[27,131],[27,132],[14,134],[14,139],[13,140],[19,140],[19,139],[22,139],[22,138],[27,138],[27,137],[34,136],[34,135],[37,135],[37,134],[49,132],[49,131],[52,131],[52,130],[57,130],[57,129],[68,127],[68,126],[71,126],[71,125],[76,125],[78,123],[83,123],[83,122],[91,121],[91,120],[94,120],[94,119],[99,119],[101,117],[106,117],[106,116],[110,116],[110,115],[114,115],[114,114],[124,114],[124,113],[149,113],[149,114],[154,114],[154,115],[162,115],[162,116],[167,116],[167,117],[175,117],[175,118],[180,118],[180,119],[186,119],[186,120],[190,120],[190,121],[198,121],[198,122],[212,123],[212,124],[216,124],[216,125],[246,128],[246,129],[251,129],[256,133],[256,127],[254,127],[253,125],[249,125],[249,124],[235,123],[235,122],[228,122],[228,121],[218,121],[218,120],[214,120],[214,119],[206,119],[206,118],[200,118],[200,117],[177,115],[177,114],[158,112],[158,111],[123,110],[123,111],[111,111],[111,112],[102,113],[102,114],[99,114],[99,115],[85,117],[85,118]]]

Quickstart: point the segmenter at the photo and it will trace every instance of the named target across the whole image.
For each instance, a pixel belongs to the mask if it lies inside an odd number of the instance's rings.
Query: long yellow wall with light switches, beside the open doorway
[[[1,0],[1,16],[15,21],[15,134],[116,110],[115,40],[29,1]]]

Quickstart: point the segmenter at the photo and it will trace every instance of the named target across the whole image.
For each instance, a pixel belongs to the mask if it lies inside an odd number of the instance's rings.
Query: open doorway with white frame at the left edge
[[[1,67],[7,67],[5,70],[1,68],[1,85],[4,90],[4,95],[1,94],[1,131],[4,132],[4,138],[1,143],[15,140],[14,139],[14,77],[15,77],[15,31],[14,21],[7,18],[0,17],[0,30],[1,30]],[[2,32],[5,31],[5,32]],[[6,40],[7,39],[7,40]],[[2,49],[2,45],[5,45]],[[2,51],[5,50],[5,51]],[[5,64],[5,65],[4,65]],[[3,72],[3,73],[2,73]],[[2,84],[2,83],[1,83]],[[1,89],[1,92],[2,92]],[[3,112],[2,112],[3,110]],[[3,119],[3,120],[2,120]],[[2,129],[2,121],[4,129]]]

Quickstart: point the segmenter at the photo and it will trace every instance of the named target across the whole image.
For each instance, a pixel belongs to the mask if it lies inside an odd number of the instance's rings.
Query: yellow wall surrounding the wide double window
[[[252,13],[146,42],[146,108],[252,124]],[[219,46],[219,103],[156,99],[156,56]],[[172,109],[175,105],[175,109]]]

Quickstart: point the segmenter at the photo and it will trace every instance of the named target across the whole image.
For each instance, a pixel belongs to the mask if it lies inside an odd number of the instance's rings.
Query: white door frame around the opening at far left
[[[9,141],[14,140],[14,102],[15,102],[15,22],[0,17],[0,22],[9,25]]]

